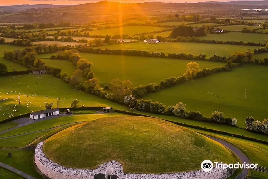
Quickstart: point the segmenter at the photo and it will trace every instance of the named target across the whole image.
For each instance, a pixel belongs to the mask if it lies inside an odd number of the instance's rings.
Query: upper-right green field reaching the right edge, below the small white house
[[[244,41],[254,43],[266,43],[268,42],[268,35],[258,33],[241,33],[241,32],[228,32],[222,34],[207,34],[207,36],[200,37],[200,39],[206,40],[218,40],[218,41]],[[258,47],[255,47],[258,48]]]

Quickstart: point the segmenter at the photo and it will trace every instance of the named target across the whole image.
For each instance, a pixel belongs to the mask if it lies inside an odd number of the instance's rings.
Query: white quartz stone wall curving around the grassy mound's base
[[[54,163],[43,152],[43,143],[35,148],[35,164],[38,169],[52,179],[94,179],[95,174],[111,173],[120,179],[224,179],[230,176],[228,169],[213,168],[210,172],[195,170],[191,172],[169,174],[130,174],[124,173],[120,163],[116,161],[106,162],[96,169],[73,169]],[[111,172],[112,171],[112,172]]]

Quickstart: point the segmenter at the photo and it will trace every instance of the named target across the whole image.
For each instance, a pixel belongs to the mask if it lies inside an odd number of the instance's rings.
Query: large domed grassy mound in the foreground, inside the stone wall
[[[233,163],[221,144],[190,129],[146,117],[109,117],[79,124],[48,138],[47,158],[71,168],[95,169],[116,160],[125,173],[173,173],[201,169],[209,159]]]

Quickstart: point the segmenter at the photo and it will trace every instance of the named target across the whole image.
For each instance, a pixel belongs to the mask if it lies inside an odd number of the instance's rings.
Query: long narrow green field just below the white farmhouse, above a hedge
[[[253,51],[255,46],[243,45],[226,45],[226,44],[204,44],[204,43],[191,43],[191,42],[161,42],[158,44],[146,43],[126,43],[104,45],[99,48],[105,49],[123,49],[123,50],[144,50],[149,52],[164,52],[164,53],[186,53],[193,55],[200,55],[205,53],[207,58],[212,55],[225,55],[229,56],[235,52],[245,52],[249,48]]]

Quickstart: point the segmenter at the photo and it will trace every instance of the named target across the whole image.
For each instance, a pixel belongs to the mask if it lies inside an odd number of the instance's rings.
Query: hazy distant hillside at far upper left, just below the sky
[[[27,9],[35,8],[35,9],[45,9],[45,8],[57,8],[57,7],[64,7],[66,5],[53,5],[53,4],[23,4],[23,5],[14,5],[14,6],[0,6],[0,12],[12,12],[17,13],[20,11],[25,11]]]

